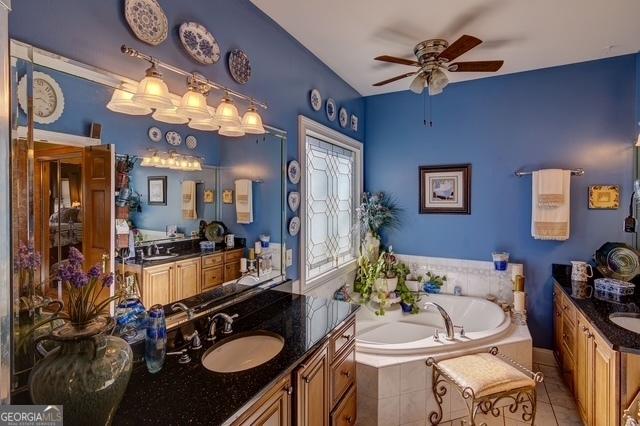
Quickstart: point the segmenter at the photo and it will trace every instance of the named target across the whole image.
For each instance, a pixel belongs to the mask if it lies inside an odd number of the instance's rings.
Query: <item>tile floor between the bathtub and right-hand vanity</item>
[[[536,413],[536,425],[540,426],[581,426],[582,421],[578,414],[571,391],[562,382],[562,376],[555,360],[552,357],[537,359],[534,352],[533,370],[544,373],[544,383],[538,385],[538,412]],[[523,423],[520,413],[512,414],[503,410],[502,416],[478,416],[478,423],[486,422],[487,426],[521,426]],[[463,419],[441,423],[445,426],[464,425]]]

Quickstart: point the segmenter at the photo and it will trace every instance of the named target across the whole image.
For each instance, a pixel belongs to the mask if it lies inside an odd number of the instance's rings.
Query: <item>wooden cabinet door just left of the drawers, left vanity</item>
[[[298,426],[329,424],[328,352],[323,346],[296,372]]]

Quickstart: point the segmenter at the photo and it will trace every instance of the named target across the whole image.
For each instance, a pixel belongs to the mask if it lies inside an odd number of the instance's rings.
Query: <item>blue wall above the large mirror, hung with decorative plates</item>
[[[269,104],[269,110],[263,114],[265,122],[289,134],[288,160],[298,155],[298,114],[338,129],[337,122],[328,122],[323,113],[314,112],[309,106],[309,92],[314,87],[325,98],[333,97],[338,106],[344,105],[348,111],[358,115],[360,130],[347,131],[347,134],[363,139],[364,102],[360,95],[248,0],[160,0],[171,31],[167,40],[157,47],[135,39],[124,20],[122,1],[21,0],[14,3],[9,17],[9,32],[18,40],[139,80],[144,76],[147,65],[120,53],[120,45],[126,43],[163,61],[199,71],[215,81],[265,100]],[[198,21],[209,28],[224,53],[232,48],[247,52],[253,73],[246,85],[238,85],[231,79],[226,60],[202,66],[184,52],[177,27],[187,20]],[[182,78],[168,74],[165,77],[173,92],[184,92]],[[210,104],[216,104],[219,98],[220,94],[211,95]],[[142,135],[147,127],[147,124],[141,126]],[[183,133],[187,131],[186,127],[182,130]],[[233,140],[214,135],[211,138],[221,144],[233,143]],[[113,139],[116,140],[117,135]],[[252,159],[258,163],[253,151],[244,154],[247,165]],[[204,155],[210,154],[204,152]],[[288,189],[293,190],[294,186],[289,185]],[[288,216],[290,218],[293,214],[288,212]],[[294,267],[289,270],[289,275],[297,277],[298,239],[289,237],[286,243],[294,249]]]

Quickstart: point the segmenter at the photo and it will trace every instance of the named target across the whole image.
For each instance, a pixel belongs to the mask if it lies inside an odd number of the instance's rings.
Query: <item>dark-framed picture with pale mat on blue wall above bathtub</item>
[[[420,214],[471,214],[471,164],[420,166]]]

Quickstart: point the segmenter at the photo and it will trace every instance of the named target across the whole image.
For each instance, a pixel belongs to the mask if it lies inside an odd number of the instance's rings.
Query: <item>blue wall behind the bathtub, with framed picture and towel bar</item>
[[[633,179],[636,58],[633,55],[452,84],[432,98],[399,92],[366,98],[365,186],[384,190],[404,214],[386,235],[398,253],[490,260],[506,250],[525,264],[534,343],[551,346],[553,262],[589,259],[622,232]],[[418,214],[418,166],[471,163],[471,215]],[[531,178],[517,169],[582,167],[571,182],[571,238],[530,235]],[[587,187],[622,187],[621,207],[588,210]]]

